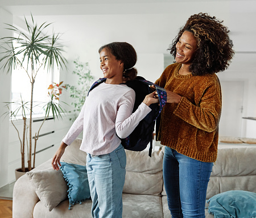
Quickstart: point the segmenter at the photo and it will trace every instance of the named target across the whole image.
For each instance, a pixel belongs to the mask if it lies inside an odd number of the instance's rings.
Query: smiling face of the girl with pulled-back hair
[[[123,76],[123,62],[117,60],[106,48],[100,52],[100,68],[107,79],[115,81]]]

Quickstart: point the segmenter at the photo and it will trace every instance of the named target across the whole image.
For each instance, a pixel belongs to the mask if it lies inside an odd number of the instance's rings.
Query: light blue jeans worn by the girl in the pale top
[[[87,154],[86,169],[92,198],[92,217],[122,218],[126,154],[122,145],[109,154]]]

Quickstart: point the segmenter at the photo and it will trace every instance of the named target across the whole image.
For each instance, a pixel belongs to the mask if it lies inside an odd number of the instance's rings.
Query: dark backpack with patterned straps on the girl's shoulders
[[[93,85],[90,87],[89,92],[94,89],[97,85],[102,82],[105,82],[106,78],[98,79]],[[137,110],[139,105],[143,102],[146,95],[152,93],[152,89],[149,87],[151,85],[155,85],[152,82],[146,81],[143,77],[137,77],[133,81],[127,81],[126,85],[135,91],[135,103],[133,112]],[[147,148],[148,143],[150,143],[150,150],[148,155],[151,157],[152,152],[152,140],[153,140],[153,132],[155,127],[155,120],[158,118],[164,104],[167,102],[167,94],[166,90],[158,85],[155,85],[156,91],[159,96],[159,104],[151,104],[151,111],[139,122],[134,131],[125,139],[121,139],[121,144],[127,150],[133,150],[137,152],[141,152],[142,150]]]

